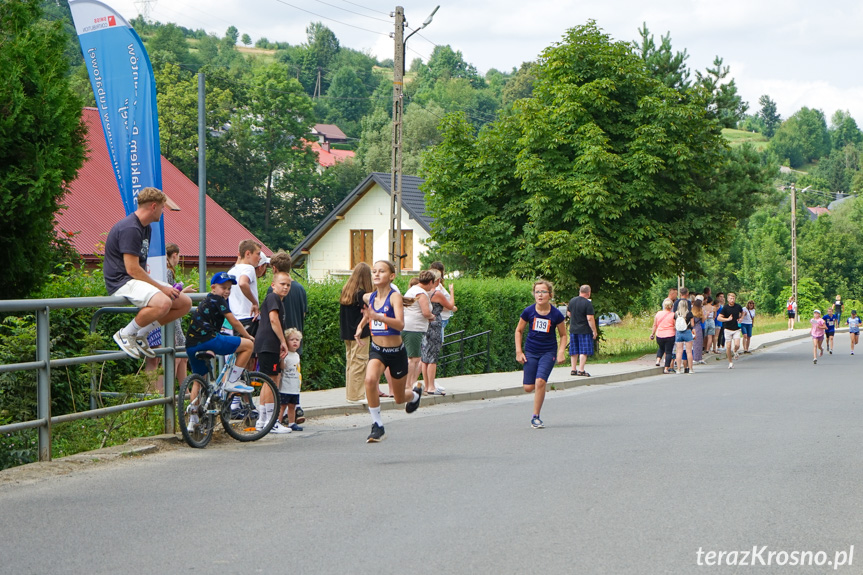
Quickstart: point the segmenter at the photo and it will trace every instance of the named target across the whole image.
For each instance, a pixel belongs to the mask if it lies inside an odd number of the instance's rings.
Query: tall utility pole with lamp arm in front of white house
[[[390,259],[396,266],[396,274],[401,275],[402,259],[405,257],[402,248],[402,113],[404,102],[402,87],[405,75],[405,45],[408,38],[431,24],[432,18],[440,6],[435,6],[423,25],[404,38],[405,10],[396,6],[391,16],[395,17],[395,57],[393,58],[393,139],[392,139],[392,170],[390,172]]]

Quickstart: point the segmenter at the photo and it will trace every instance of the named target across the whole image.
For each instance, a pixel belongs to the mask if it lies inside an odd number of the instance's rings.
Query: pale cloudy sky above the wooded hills
[[[143,11],[141,1],[103,1],[126,19]],[[808,106],[823,110],[828,123],[837,109],[850,110],[863,126],[860,0],[416,0],[403,3],[408,25],[419,27],[438,3],[432,24],[408,42],[408,63],[418,56],[427,60],[434,44],[449,44],[481,73],[508,71],[589,19],[627,41],[646,22],[657,41],[671,33],[672,47],[688,51],[693,70],[722,56],[750,111],[758,109],[759,96],[769,94],[783,119]],[[219,36],[234,25],[253,41],[300,44],[309,22],[320,21],[342,46],[380,59],[393,55],[389,14],[395,4],[381,0],[150,0],[149,5],[152,20]]]

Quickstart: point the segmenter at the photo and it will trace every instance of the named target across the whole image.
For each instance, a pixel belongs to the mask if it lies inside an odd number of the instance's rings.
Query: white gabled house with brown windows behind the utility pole
[[[371,265],[389,259],[390,174],[373,172],[315,227],[291,253],[295,266],[305,267],[309,279],[343,276],[360,262]],[[402,176],[403,271],[419,270],[432,219],[416,176]]]

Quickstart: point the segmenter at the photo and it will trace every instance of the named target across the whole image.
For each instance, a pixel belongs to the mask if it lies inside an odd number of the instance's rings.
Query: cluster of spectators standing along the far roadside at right
[[[709,287],[702,293],[686,287],[668,290],[662,309],[656,313],[650,339],[656,340],[656,365],[665,357],[663,373],[695,373],[694,365],[704,364],[709,353],[725,353],[728,368],[743,353],[750,353],[755,302],[743,307],[736,294],[718,292]]]

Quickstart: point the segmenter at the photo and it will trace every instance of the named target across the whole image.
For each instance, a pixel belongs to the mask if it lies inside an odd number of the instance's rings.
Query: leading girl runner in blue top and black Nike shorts
[[[405,389],[408,375],[408,355],[402,342],[401,332],[405,326],[405,304],[401,294],[390,287],[396,277],[396,267],[392,262],[380,260],[372,267],[372,284],[375,291],[363,296],[366,306],[363,319],[357,326],[355,337],[362,337],[365,325],[371,327],[372,341],[369,344],[369,363],[366,366],[366,400],[372,416],[372,432],[367,443],[377,443],[384,437],[384,423],[381,419],[381,399],[378,382],[384,371],[389,368],[392,376],[392,392],[396,403],[405,403],[405,411],[413,413],[420,406],[422,387]],[[406,300],[407,298],[405,298]],[[413,394],[413,395],[411,395]]]

